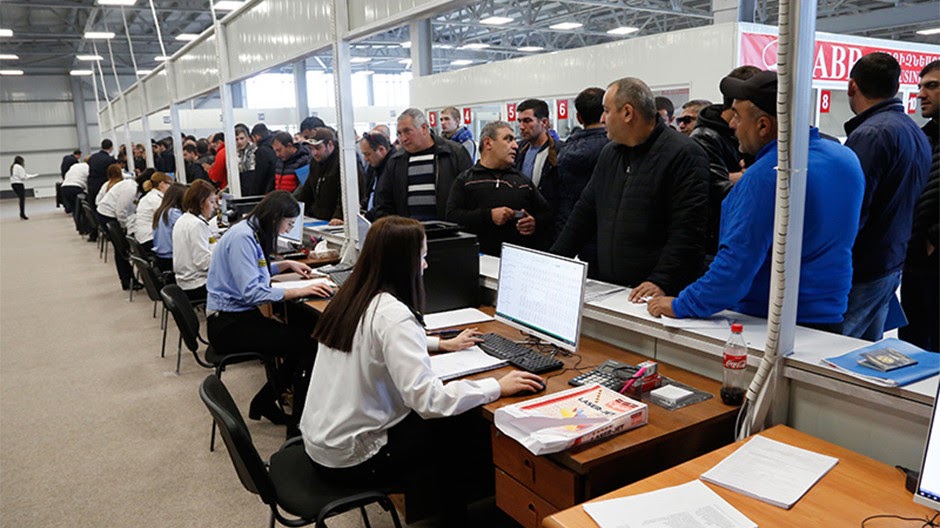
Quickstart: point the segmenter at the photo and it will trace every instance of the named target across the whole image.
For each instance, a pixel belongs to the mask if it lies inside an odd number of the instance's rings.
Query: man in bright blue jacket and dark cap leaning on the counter
[[[777,186],[777,74],[725,77],[731,127],[741,152],[756,157],[721,204],[718,254],[678,297],[650,299],[654,316],[708,317],[724,309],[767,316]],[[852,243],[865,177],[855,154],[810,129],[797,322],[835,331],[852,285]]]

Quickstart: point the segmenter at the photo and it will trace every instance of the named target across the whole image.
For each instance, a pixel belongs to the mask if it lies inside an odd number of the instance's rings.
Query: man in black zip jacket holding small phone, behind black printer
[[[502,243],[544,247],[551,211],[529,178],[513,166],[515,134],[505,121],[491,121],[480,132],[480,161],[465,170],[450,190],[447,220],[480,241],[480,251],[499,256]]]

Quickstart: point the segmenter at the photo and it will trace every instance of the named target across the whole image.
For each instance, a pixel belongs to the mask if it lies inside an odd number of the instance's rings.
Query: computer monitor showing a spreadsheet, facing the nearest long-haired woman
[[[587,263],[503,244],[496,320],[574,352]]]

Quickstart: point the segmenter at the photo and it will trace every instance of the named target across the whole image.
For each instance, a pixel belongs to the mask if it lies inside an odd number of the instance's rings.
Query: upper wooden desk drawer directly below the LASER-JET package
[[[536,456],[493,426],[493,464],[558,509],[584,499],[580,478],[544,456]],[[497,491],[498,493],[498,491]]]

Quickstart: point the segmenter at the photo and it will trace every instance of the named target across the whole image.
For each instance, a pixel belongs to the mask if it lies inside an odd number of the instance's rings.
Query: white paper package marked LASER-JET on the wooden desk
[[[645,403],[598,384],[508,405],[495,416],[500,431],[536,455],[613,436],[648,420]]]

